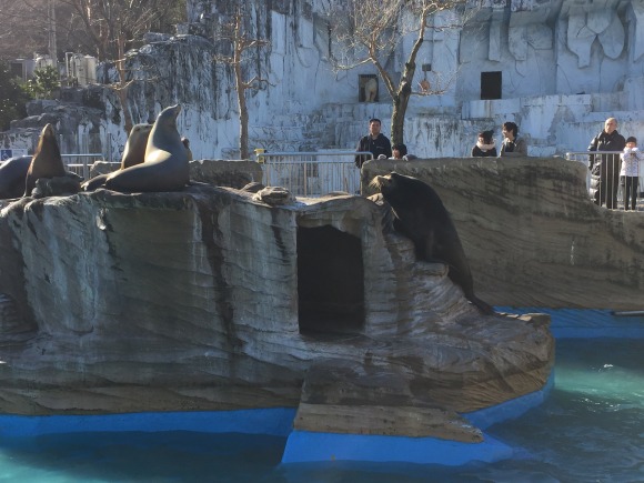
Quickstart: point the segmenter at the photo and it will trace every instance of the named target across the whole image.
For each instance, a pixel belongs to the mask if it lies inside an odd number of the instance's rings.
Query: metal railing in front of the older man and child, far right
[[[620,169],[622,151],[576,151],[566,152],[567,161],[582,162],[587,169],[586,187],[588,195],[598,205],[608,209],[624,208],[624,185],[620,181]],[[591,167],[592,163],[592,169]],[[642,199],[644,191],[644,169],[638,165],[638,188],[635,190],[635,198]],[[642,204],[642,203],[640,203]]]

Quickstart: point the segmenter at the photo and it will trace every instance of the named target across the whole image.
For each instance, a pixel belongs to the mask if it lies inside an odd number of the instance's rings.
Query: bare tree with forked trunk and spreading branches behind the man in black
[[[348,70],[372,63],[392,98],[392,143],[404,141],[404,117],[412,94],[431,95],[444,92],[455,77],[431,85],[424,79],[413,89],[416,57],[431,29],[461,27],[463,17],[456,14],[449,22],[434,21],[441,12],[452,12],[466,0],[382,0],[379,2],[348,0],[328,9],[330,36],[338,43],[330,52],[335,70]],[[459,21],[459,19],[461,21]],[[415,39],[404,61],[400,80],[391,58],[405,38]]]

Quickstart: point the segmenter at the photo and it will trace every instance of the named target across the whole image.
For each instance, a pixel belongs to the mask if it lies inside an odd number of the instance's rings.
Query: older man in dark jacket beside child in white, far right
[[[617,132],[617,120],[606,119],[604,129],[593,138],[588,151],[623,151],[626,140]],[[591,189],[594,189],[594,201],[600,207],[617,208],[617,188],[620,184],[620,154],[591,154],[588,169],[593,175]]]

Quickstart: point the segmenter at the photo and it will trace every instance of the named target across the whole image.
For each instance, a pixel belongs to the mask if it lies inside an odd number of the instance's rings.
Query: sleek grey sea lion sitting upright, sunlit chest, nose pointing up
[[[180,111],[179,104],[161,111],[148,138],[144,162],[108,175],[107,189],[130,193],[181,191],[189,183],[188,153],[177,130]]]

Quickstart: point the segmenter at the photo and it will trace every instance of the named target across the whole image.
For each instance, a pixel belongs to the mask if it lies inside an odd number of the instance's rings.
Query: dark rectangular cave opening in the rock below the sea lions
[[[298,228],[301,333],[358,333],[364,326],[362,243],[330,225]]]

